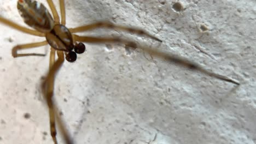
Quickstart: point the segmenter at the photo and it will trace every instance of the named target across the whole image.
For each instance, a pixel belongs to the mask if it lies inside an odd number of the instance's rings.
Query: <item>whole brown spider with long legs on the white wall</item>
[[[17,7],[20,12],[20,15],[24,18],[25,23],[27,23],[28,26],[31,26],[35,30],[19,26],[18,24],[11,22],[10,20],[5,19],[3,17],[0,17],[0,22],[4,23],[7,26],[15,28],[21,32],[46,38],[46,40],[40,41],[38,43],[15,46],[12,50],[13,57],[45,56],[44,54],[39,54],[39,53],[18,53],[18,51],[24,50],[24,49],[31,49],[31,48],[43,46],[46,44],[49,44],[51,46],[49,73],[46,76],[44,82],[42,83],[42,89],[44,93],[44,98],[46,99],[49,107],[50,132],[51,132],[51,137],[53,138],[53,141],[55,144],[57,143],[56,128],[55,128],[56,121],[60,123],[61,133],[65,137],[65,142],[72,143],[71,137],[68,135],[67,131],[65,131],[65,128],[61,124],[62,123],[61,119],[55,118],[55,111],[54,111],[54,104],[53,104],[55,74],[60,69],[63,62],[65,61],[65,58],[68,62],[74,62],[77,58],[77,53],[83,53],[85,51],[85,45],[81,42],[122,43],[127,46],[142,48],[144,51],[150,53],[150,55],[163,58],[166,61],[177,63],[191,70],[200,71],[201,73],[215,77],[217,79],[239,85],[239,82],[235,80],[232,80],[226,76],[211,73],[210,71],[207,71],[201,68],[199,65],[189,62],[183,58],[173,56],[167,52],[151,49],[149,47],[137,46],[136,43],[130,40],[124,40],[120,38],[109,38],[109,37],[98,38],[98,37],[75,35],[73,33],[89,31],[96,28],[109,28],[109,29],[115,29],[119,31],[126,31],[126,32],[138,34],[138,35],[144,35],[156,41],[159,41],[160,43],[162,42],[160,39],[154,37],[153,35],[150,35],[146,31],[143,31],[141,29],[118,26],[106,21],[91,23],[89,25],[84,25],[77,28],[67,28],[65,26],[66,18],[65,18],[64,0],[60,0],[61,21],[55,9],[55,5],[53,4],[53,1],[47,0],[47,2],[49,4],[51,12],[53,13],[53,17],[50,15],[49,11],[45,8],[45,6],[37,1],[31,1],[31,0],[18,1]],[[57,60],[55,60],[55,53],[57,53],[57,56],[58,56]]]

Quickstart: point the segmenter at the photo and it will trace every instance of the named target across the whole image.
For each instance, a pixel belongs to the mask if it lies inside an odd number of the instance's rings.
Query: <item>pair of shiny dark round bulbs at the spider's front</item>
[[[65,52],[66,60],[68,62],[74,62],[75,60],[77,60],[77,53],[84,53],[84,51],[85,45],[83,43],[76,43],[72,47],[69,47],[68,52]]]

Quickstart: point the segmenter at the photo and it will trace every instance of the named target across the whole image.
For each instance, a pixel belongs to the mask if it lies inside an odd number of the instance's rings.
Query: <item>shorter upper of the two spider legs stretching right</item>
[[[139,34],[139,35],[145,35],[149,38],[152,38],[154,40],[162,42],[162,40],[156,38],[154,35],[151,35],[146,31],[143,31],[142,29],[114,25],[113,23],[106,22],[106,21],[91,23],[89,25],[80,26],[77,28],[69,28],[69,31],[71,33],[77,33],[77,32],[83,32],[83,31],[90,31],[90,30],[96,29],[96,28],[109,28],[109,29],[115,29],[115,30],[119,30],[119,31],[135,33],[135,34]]]

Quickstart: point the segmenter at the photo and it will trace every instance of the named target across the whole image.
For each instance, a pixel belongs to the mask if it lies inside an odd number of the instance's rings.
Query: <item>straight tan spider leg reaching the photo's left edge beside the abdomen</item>
[[[38,32],[38,31],[34,31],[32,29],[29,29],[29,28],[26,28],[26,27],[22,27],[10,20],[7,20],[3,17],[0,17],[0,22],[4,23],[5,25],[9,26],[9,27],[12,27],[14,29],[17,29],[21,32],[24,32],[24,33],[27,33],[27,34],[31,34],[31,35],[36,35],[36,36],[39,36],[39,37],[45,37],[45,34],[44,33],[41,33],[41,32]]]

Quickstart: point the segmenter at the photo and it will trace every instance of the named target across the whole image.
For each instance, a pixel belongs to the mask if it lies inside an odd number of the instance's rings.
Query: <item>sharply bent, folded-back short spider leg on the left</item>
[[[42,42],[38,42],[38,43],[31,43],[31,44],[24,44],[24,45],[16,45],[15,47],[13,47],[13,50],[11,52],[11,54],[13,55],[13,57],[25,57],[25,56],[45,56],[45,54],[40,54],[40,53],[22,53],[22,54],[18,54],[18,50],[25,50],[25,49],[33,49],[35,47],[39,47],[39,46],[44,46],[47,45],[47,41],[42,41]]]

